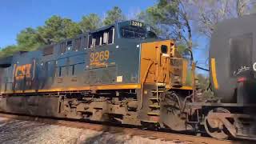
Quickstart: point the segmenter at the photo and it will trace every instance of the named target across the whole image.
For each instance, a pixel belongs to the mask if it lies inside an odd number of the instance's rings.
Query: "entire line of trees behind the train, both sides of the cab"
[[[135,14],[134,19],[152,26],[160,37],[174,39],[180,50],[192,50],[197,46],[193,41],[194,34],[210,38],[218,22],[253,13],[255,3],[253,0],[157,0],[154,6]],[[17,44],[2,48],[0,57],[17,51],[37,50],[40,46],[126,19],[118,6],[106,11],[104,18],[98,14],[87,14],[80,22],[54,15],[46,19],[43,26],[21,30],[17,34]]]

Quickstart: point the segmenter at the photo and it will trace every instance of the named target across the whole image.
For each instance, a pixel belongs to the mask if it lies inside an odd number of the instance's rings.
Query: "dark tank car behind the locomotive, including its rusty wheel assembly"
[[[232,18],[220,22],[212,35],[210,79],[220,98],[218,107],[206,116],[206,131],[212,137],[225,138],[225,127],[233,137],[256,138],[255,23],[255,14]]]

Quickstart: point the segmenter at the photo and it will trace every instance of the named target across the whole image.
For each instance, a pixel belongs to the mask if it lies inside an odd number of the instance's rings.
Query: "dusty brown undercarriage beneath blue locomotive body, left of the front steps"
[[[1,111],[43,117],[136,124],[136,90],[100,90],[2,95]],[[126,95],[126,97],[125,97]],[[125,98],[121,100],[122,98]],[[125,122],[126,121],[126,122]]]

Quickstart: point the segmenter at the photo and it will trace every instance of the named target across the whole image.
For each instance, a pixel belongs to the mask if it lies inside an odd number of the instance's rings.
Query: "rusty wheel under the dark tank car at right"
[[[210,110],[210,112],[207,114],[204,122],[204,126],[206,129],[207,134],[209,134],[213,138],[218,139],[227,139],[229,138],[229,135],[226,134],[225,126],[222,123],[221,120],[218,118],[210,118],[210,114],[213,114],[214,112],[217,113],[230,113],[229,110],[226,110],[224,108],[217,108],[214,110]]]

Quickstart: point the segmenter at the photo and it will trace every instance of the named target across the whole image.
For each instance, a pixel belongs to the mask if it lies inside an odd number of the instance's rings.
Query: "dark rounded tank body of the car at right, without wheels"
[[[214,94],[222,98],[222,102],[238,102],[240,82],[243,89],[242,97],[246,100],[244,102],[254,102],[256,96],[255,24],[255,14],[226,20],[218,24],[212,35],[210,79]]]

